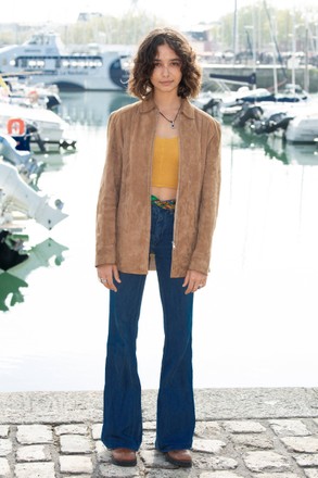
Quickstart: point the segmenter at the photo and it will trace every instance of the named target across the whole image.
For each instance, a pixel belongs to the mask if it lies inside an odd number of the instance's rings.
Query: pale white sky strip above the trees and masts
[[[15,0],[14,3],[5,2],[5,8],[1,9],[0,23],[72,23],[80,12],[117,16],[135,7],[166,20],[167,24],[186,26],[217,21],[224,14],[233,12],[236,2],[239,9],[252,5],[255,0]],[[293,4],[313,5],[315,0],[267,0],[267,4],[290,9]]]

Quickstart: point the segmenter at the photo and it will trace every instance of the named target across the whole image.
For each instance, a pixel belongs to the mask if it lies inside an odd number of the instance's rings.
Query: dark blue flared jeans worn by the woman
[[[191,449],[195,426],[192,382],[193,293],[170,278],[174,211],[152,204],[150,252],[155,254],[164,317],[164,350],[157,394],[156,441],[162,452]],[[120,273],[110,292],[102,441],[137,451],[142,441],[141,385],[136,342],[145,275]]]

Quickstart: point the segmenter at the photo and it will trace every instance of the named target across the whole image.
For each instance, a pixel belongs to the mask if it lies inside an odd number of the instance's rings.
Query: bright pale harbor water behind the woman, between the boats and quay
[[[0,291],[0,391],[101,390],[109,292],[94,268],[94,214],[111,111],[125,93],[61,93],[75,150],[47,162],[43,193],[64,203],[52,230],[28,221],[31,253]],[[195,293],[195,388],[317,387],[318,154],[222,125],[222,181],[211,273]],[[9,271],[10,273],[10,271]],[[5,273],[8,274],[8,273]],[[9,279],[8,279],[9,280]],[[163,324],[148,275],[138,358],[157,388]]]

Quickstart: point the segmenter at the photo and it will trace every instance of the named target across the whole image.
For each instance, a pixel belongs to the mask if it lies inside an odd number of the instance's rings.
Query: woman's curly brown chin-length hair
[[[202,71],[188,39],[174,28],[155,28],[141,41],[130,71],[127,91],[144,99],[153,90],[150,77],[154,68],[157,47],[167,45],[181,60],[182,78],[178,87],[181,98],[195,98],[201,89]]]

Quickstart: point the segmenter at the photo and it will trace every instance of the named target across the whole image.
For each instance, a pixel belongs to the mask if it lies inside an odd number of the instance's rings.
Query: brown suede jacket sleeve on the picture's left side
[[[116,222],[120,192],[123,138],[118,115],[107,124],[106,160],[102,173],[96,218],[96,266],[116,264]]]

